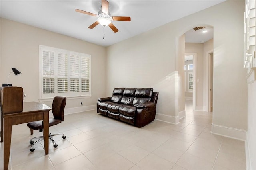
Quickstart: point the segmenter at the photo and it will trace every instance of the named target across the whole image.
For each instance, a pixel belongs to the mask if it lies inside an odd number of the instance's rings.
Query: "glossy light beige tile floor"
[[[31,137],[26,124],[12,127],[10,170],[246,170],[244,141],[210,133],[212,113],[192,111],[186,101],[186,117],[178,125],[154,120],[137,128],[98,115],[96,110],[65,115],[50,127],[58,147],[43,142],[29,151]],[[3,143],[0,143],[3,169]]]

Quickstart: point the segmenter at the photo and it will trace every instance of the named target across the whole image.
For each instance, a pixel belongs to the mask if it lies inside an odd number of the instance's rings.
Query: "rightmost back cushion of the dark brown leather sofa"
[[[137,106],[151,100],[153,88],[137,88],[132,105]]]

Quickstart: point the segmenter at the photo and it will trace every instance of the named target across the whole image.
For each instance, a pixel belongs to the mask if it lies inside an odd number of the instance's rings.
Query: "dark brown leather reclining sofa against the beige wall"
[[[155,119],[157,99],[153,88],[114,88],[112,97],[98,98],[97,113],[143,127]]]

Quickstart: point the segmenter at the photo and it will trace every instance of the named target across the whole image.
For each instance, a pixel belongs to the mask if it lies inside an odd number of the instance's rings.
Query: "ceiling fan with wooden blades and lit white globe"
[[[103,27],[109,26],[116,33],[118,32],[118,29],[111,23],[111,21],[131,21],[130,17],[111,16],[108,12],[108,1],[106,0],[101,0],[101,10],[98,12],[98,15],[79,9],[76,9],[76,12],[98,17],[97,21],[88,27],[90,29],[96,27],[100,23]]]

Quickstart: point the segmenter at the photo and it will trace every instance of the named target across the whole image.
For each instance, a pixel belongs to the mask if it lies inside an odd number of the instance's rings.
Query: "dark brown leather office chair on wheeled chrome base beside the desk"
[[[53,118],[49,118],[49,127],[57,125],[57,124],[61,123],[62,121],[64,121],[64,108],[66,106],[66,100],[67,99],[65,97],[60,97],[60,96],[54,97],[53,102],[52,102]],[[28,123],[27,126],[30,128],[31,135],[33,134],[33,130],[39,130],[41,132],[43,131],[42,121],[33,121],[33,122]],[[63,139],[66,138],[66,136],[63,133],[56,133],[56,134],[49,133],[49,140],[52,141],[54,148],[58,147],[56,142],[52,139],[52,137],[56,136],[56,135],[62,135]],[[37,139],[37,141],[34,142],[33,141],[34,139]],[[30,139],[30,141],[29,141],[29,143],[31,144],[30,151],[33,152],[35,150],[33,148],[33,146],[43,139],[44,139],[43,136],[33,137],[32,139]]]

